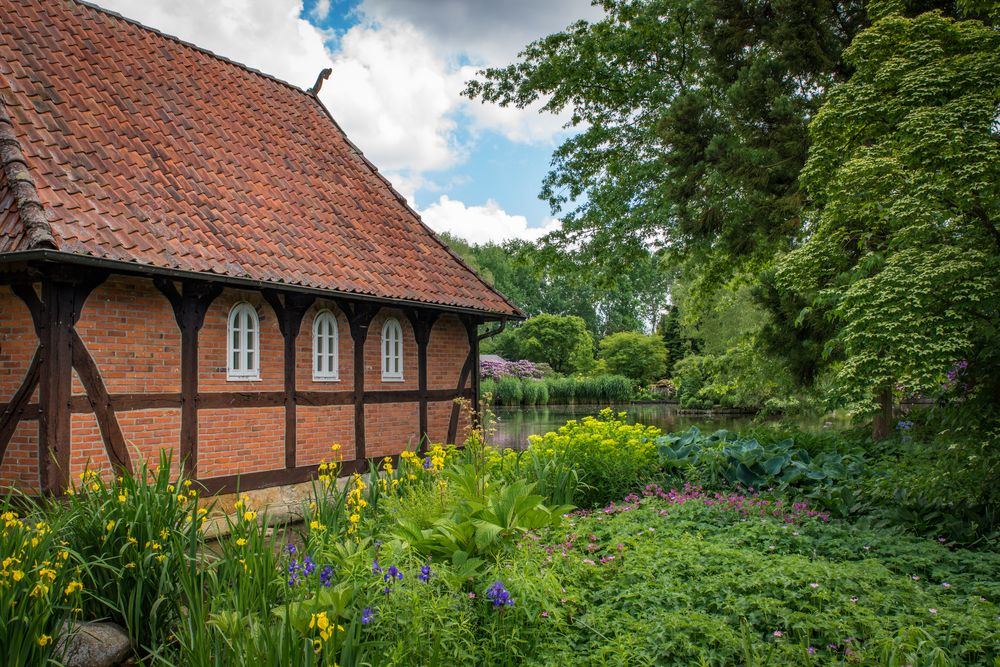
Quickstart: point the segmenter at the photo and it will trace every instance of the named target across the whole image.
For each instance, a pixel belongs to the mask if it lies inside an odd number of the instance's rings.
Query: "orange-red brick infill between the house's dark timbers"
[[[229,313],[239,302],[250,303],[260,320],[259,381],[230,381],[226,377],[226,343]],[[312,377],[312,326],[316,314],[329,310],[337,318],[339,380]],[[403,332],[403,381],[383,381],[381,373],[382,327],[395,317]],[[177,394],[180,382],[180,333],[167,299],[143,278],[112,276],[88,298],[77,331],[91,354],[108,392],[112,395]],[[13,396],[28,368],[38,341],[27,308],[7,287],[0,286],[0,407]],[[353,391],[354,342],[347,318],[330,300],[319,299],[306,312],[296,342],[296,383],[301,391]],[[465,327],[454,315],[443,315],[431,331],[428,345],[429,389],[455,389],[468,354]],[[367,391],[416,390],[417,347],[413,329],[404,313],[384,308],[374,317],[365,343]],[[199,390],[201,392],[280,392],[284,390],[283,340],[277,318],[263,297],[249,290],[226,289],[208,309],[199,334]],[[470,383],[467,383],[470,386]],[[73,372],[74,394],[84,393]],[[38,403],[38,392],[32,403]],[[448,432],[452,402],[429,404],[431,439],[443,442]],[[417,446],[419,404],[416,401],[369,404],[365,408],[366,454],[382,457]],[[116,413],[132,460],[151,463],[161,449],[179,460],[181,411],[179,407],[119,410]],[[463,433],[465,417],[459,427]],[[71,475],[86,465],[110,474],[110,463],[97,420],[90,413],[71,416]],[[332,458],[330,446],[342,446],[341,456],[355,455],[354,406],[309,406],[297,409],[297,461],[310,465]],[[228,476],[281,469],[285,456],[285,409],[202,409],[198,413],[199,474]],[[37,487],[38,422],[18,425],[0,465],[0,485]]]

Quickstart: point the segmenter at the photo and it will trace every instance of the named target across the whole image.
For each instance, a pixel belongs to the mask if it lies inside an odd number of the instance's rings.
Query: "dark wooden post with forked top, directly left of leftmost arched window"
[[[222,293],[218,283],[185,281],[183,292],[166,278],[153,283],[170,302],[181,332],[181,463],[191,477],[198,475],[198,332],[208,307]]]

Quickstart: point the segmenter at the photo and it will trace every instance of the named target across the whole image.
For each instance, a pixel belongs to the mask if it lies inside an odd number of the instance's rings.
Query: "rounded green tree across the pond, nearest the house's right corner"
[[[528,318],[510,334],[508,353],[546,363],[557,373],[585,372],[594,363],[594,339],[583,319],[543,313]]]

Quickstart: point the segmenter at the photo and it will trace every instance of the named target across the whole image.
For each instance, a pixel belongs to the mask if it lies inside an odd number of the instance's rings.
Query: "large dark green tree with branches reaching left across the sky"
[[[800,231],[807,126],[846,78],[861,0],[600,0],[580,21],[491,68],[466,94],[572,112],[541,196],[560,214],[546,254],[619,272],[650,242],[699,250],[729,274]]]

